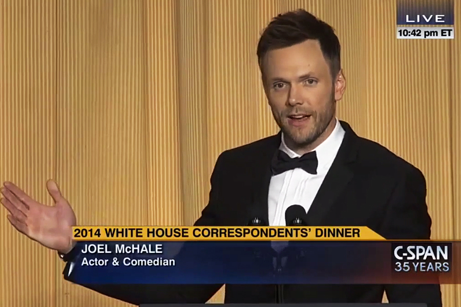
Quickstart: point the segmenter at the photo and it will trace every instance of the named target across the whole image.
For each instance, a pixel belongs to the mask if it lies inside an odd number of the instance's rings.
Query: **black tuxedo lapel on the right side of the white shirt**
[[[349,124],[340,121],[345,130],[343,142],[320,189],[307,212],[309,226],[322,226],[325,215],[353,178],[352,162],[357,156],[357,139]],[[326,225],[328,226],[328,225]]]

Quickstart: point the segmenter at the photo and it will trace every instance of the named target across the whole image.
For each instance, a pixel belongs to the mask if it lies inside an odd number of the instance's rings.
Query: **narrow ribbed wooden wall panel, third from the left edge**
[[[151,225],[183,224],[181,186],[180,105],[178,89],[178,19],[176,0],[142,1],[142,66],[145,113],[146,165]],[[131,5],[127,0],[124,5]],[[131,35],[134,35],[132,33]],[[123,58],[120,58],[123,61]]]

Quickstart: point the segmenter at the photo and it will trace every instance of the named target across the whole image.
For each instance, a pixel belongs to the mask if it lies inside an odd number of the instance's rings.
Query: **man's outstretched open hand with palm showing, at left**
[[[47,190],[54,206],[40,204],[13,183],[5,182],[0,202],[9,212],[8,221],[19,232],[47,248],[68,253],[74,246],[75,213],[56,182],[49,180]]]

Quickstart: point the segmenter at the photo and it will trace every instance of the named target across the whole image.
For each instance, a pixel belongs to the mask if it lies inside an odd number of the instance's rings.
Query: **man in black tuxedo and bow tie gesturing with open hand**
[[[246,225],[249,211],[283,226],[293,204],[312,226],[368,226],[388,239],[429,239],[431,218],[420,170],[386,148],[355,135],[336,118],[346,80],[333,29],[304,10],[275,17],[262,34],[257,55],[264,90],[281,131],[223,152],[211,177],[209,203],[196,226]],[[11,183],[2,189],[8,220],[72,262],[76,218],[57,185],[49,181],[54,207],[38,204]],[[71,251],[69,253],[69,251]],[[69,265],[65,278],[72,281]],[[86,285],[134,304],[199,303],[221,284],[195,286]],[[442,306],[438,285],[284,286],[284,302],[423,302]],[[226,286],[225,302],[276,302],[276,286]]]

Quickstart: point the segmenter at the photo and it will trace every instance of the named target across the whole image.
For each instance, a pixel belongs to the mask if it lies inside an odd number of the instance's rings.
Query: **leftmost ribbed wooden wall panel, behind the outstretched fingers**
[[[0,1],[0,178],[44,203],[56,162],[55,89],[54,1]],[[0,242],[0,306],[55,306],[55,254],[19,235],[5,211]]]

